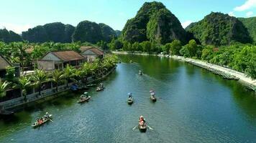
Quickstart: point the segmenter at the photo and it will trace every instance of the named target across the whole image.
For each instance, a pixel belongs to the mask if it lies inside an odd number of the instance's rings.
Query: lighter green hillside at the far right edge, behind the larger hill
[[[249,31],[250,36],[256,43],[256,16],[250,18],[238,18]]]

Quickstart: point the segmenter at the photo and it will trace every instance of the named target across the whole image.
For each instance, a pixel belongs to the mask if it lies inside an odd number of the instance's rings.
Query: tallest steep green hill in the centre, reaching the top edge
[[[156,1],[143,4],[137,15],[127,21],[122,31],[122,40],[131,43],[154,40],[166,44],[173,39],[186,41],[186,31],[177,17]]]

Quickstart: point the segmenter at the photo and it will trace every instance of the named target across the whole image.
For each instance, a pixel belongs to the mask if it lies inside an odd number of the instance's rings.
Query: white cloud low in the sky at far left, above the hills
[[[9,24],[0,21],[0,29],[6,28],[7,30],[12,30],[17,34],[22,34],[22,31],[27,31],[27,29],[32,28],[29,24]]]

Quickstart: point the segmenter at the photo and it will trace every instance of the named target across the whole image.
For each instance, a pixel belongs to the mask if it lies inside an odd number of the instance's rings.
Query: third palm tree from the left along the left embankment
[[[38,92],[41,95],[41,86],[43,82],[47,82],[47,74],[43,70],[36,70],[35,74],[32,75],[33,85],[38,88]]]

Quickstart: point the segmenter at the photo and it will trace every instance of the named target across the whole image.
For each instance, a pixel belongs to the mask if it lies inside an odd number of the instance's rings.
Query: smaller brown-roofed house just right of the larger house
[[[86,57],[87,61],[94,61],[96,58],[103,58],[104,51],[93,46],[81,46],[81,54]]]

